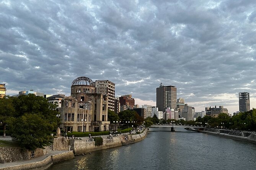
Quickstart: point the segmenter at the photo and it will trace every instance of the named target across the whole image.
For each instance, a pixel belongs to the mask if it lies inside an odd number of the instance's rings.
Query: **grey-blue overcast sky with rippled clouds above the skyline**
[[[0,0],[0,83],[70,95],[77,77],[155,106],[160,83],[203,111],[256,106],[254,0]]]

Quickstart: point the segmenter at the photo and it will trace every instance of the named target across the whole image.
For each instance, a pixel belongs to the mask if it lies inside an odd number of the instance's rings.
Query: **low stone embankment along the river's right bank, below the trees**
[[[229,138],[233,140],[256,143],[256,133],[240,132],[235,130],[222,130],[215,128],[204,128],[204,130],[199,130],[199,132],[207,133],[209,135],[220,136],[223,138]]]

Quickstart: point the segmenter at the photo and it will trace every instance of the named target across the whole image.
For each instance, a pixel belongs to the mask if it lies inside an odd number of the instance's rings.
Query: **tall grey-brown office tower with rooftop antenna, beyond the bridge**
[[[165,112],[166,107],[175,109],[177,107],[177,88],[175,86],[160,86],[157,88],[157,107],[159,111]]]

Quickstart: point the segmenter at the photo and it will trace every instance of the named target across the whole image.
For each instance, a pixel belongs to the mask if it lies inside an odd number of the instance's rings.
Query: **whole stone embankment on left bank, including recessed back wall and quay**
[[[147,133],[148,129],[145,128],[143,133],[137,135],[108,136],[103,138],[101,146],[95,146],[95,141],[92,139],[78,140],[59,137],[54,139],[52,146],[36,151],[0,147],[0,160],[2,161],[0,170],[46,170],[52,164],[73,159],[75,155],[141,141],[146,138]],[[68,151],[69,146],[70,151]]]

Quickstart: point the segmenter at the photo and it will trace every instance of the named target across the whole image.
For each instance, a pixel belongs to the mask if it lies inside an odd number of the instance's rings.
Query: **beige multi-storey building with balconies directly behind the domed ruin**
[[[109,80],[95,81],[96,93],[101,93],[108,96],[108,109],[114,111],[115,109],[115,83]]]

